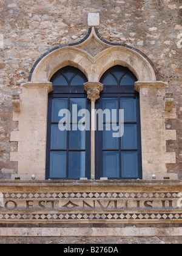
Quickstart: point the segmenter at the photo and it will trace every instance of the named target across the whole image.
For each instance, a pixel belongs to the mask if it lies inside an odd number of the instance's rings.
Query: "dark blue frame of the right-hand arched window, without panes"
[[[103,74],[101,77],[100,82],[104,84],[104,79],[107,77],[108,74],[112,74],[112,70],[117,68],[118,66],[113,66],[112,68],[108,69],[106,73]],[[121,68],[126,69],[126,73],[129,73],[133,79],[136,77],[134,74],[127,68],[121,66]],[[125,74],[124,74],[125,75]],[[123,75],[123,77],[124,77]],[[121,80],[123,79],[121,78]],[[121,82],[119,80],[119,84]],[[124,124],[129,123],[136,123],[137,124],[137,152],[138,152],[138,177],[122,177],[122,170],[121,170],[121,151],[136,151],[136,149],[121,149],[121,138],[119,138],[119,149],[115,150],[108,150],[108,151],[116,151],[119,152],[119,171],[120,177],[107,177],[110,180],[136,180],[136,179],[143,179],[143,170],[142,170],[142,152],[141,152],[141,119],[140,119],[140,93],[135,91],[135,85],[105,85],[103,91],[100,93],[99,101],[96,102],[95,108],[102,109],[102,98],[136,98],[136,122],[124,122]],[[98,119],[97,119],[98,124]],[[107,151],[103,149],[103,131],[99,131],[96,129],[95,133],[95,179],[100,179],[103,177],[103,151]]]

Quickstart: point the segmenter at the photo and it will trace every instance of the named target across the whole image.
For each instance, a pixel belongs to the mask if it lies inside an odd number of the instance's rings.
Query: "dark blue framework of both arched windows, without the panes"
[[[122,66],[121,66],[122,67]],[[115,68],[113,66],[111,69]],[[124,68],[124,67],[122,67]],[[79,70],[79,69],[78,69]],[[59,71],[58,71],[59,72]],[[131,73],[131,71],[128,69],[128,72]],[[80,71],[81,73],[81,71]],[[110,73],[110,69],[104,73],[103,77],[101,78],[101,81],[104,79],[104,77],[107,76],[107,74]],[[54,75],[55,76],[55,75]],[[136,79],[136,77],[135,77]],[[119,81],[121,82],[121,80]],[[53,91],[49,93],[48,96],[48,118],[47,118],[47,160],[46,160],[46,171],[45,171],[45,179],[53,179],[53,180],[78,180],[78,177],[68,177],[68,169],[69,169],[69,163],[68,163],[68,154],[70,151],[76,151],[79,150],[73,150],[69,149],[69,140],[67,137],[67,149],[66,150],[52,150],[50,148],[50,136],[51,136],[51,124],[53,123],[52,118],[52,100],[53,98],[86,98],[87,102],[87,109],[91,113],[91,104],[89,99],[87,99],[87,93],[84,91],[83,85],[56,85],[53,86]],[[119,150],[113,150],[117,151],[120,154],[120,177],[107,177],[110,180],[118,179],[118,180],[132,180],[132,179],[142,179],[142,160],[141,160],[141,123],[140,123],[140,95],[137,91],[134,90],[134,85],[104,85],[103,91],[100,93],[100,99],[96,101],[95,109],[102,108],[101,105],[101,99],[102,98],[136,98],[136,122],[126,122],[126,123],[136,123],[137,124],[137,152],[138,152],[138,177],[122,177],[121,175],[121,151],[136,151],[136,149],[121,149]],[[91,116],[91,115],[90,115]],[[98,122],[97,122],[98,123]],[[102,145],[103,145],[103,135],[102,131],[99,131],[98,129],[95,131],[95,179],[99,180],[101,177],[103,177],[103,151]],[[90,131],[86,131],[86,177],[87,179],[90,179]],[[121,138],[119,138],[121,144]],[[67,152],[67,164],[66,164],[66,176],[67,177],[50,177],[50,152],[51,151],[66,151]],[[80,150],[84,151],[84,150]],[[107,151],[107,150],[106,150]],[[99,154],[97,154],[99,152]]]

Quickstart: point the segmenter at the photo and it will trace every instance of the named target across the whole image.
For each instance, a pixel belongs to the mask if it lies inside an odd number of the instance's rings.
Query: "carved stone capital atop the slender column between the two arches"
[[[87,82],[84,84],[84,90],[87,91],[87,98],[95,102],[100,98],[99,94],[103,90],[103,84],[99,82]]]

